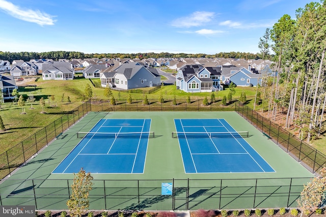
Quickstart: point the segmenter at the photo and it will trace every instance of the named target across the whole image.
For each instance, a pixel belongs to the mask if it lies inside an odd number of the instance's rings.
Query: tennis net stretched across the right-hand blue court
[[[172,138],[245,138],[248,131],[240,132],[172,132]]]

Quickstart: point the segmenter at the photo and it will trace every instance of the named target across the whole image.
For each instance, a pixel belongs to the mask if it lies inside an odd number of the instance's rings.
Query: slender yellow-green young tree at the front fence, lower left
[[[74,173],[71,185],[71,196],[67,201],[70,216],[80,217],[90,206],[89,192],[92,190],[93,177],[91,173],[85,172],[82,168],[78,173]]]

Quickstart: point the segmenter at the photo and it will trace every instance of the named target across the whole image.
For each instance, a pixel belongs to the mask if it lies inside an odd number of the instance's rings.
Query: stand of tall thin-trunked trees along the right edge
[[[300,138],[309,142],[323,132],[326,1],[309,3],[297,9],[295,16],[283,15],[260,38],[263,55],[270,48],[275,52],[278,75],[273,79],[262,77],[255,102],[262,102],[262,110],[273,120],[285,114],[285,127],[299,129]]]

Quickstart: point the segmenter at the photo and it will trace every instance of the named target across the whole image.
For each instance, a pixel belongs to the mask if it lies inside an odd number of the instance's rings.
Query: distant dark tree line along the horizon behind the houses
[[[189,53],[89,53],[76,51],[49,51],[49,52],[3,52],[0,51],[0,59],[9,60],[12,63],[15,59],[22,59],[24,61],[30,61],[31,59],[84,59],[84,58],[243,58],[243,59],[259,59],[262,58],[260,53],[249,52],[220,52],[214,55],[207,55],[205,53],[189,54]],[[273,55],[269,55],[269,59],[273,58]]]

